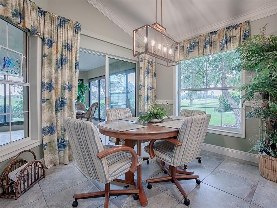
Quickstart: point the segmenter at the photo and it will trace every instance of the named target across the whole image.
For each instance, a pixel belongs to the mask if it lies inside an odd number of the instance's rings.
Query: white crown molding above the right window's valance
[[[210,31],[221,29],[223,27],[227,27],[229,25],[233,25],[233,24],[236,24],[236,23],[239,23],[239,22],[243,22],[243,21],[246,21],[246,20],[255,21],[255,20],[261,19],[263,17],[270,16],[270,15],[273,15],[273,14],[277,14],[277,2],[265,5],[263,7],[258,8],[258,9],[251,10],[251,11],[246,12],[244,14],[226,19],[224,21],[215,23],[213,25],[209,25],[207,27],[203,27],[201,29],[194,30],[194,31],[189,32],[187,34],[177,36],[173,39],[178,42],[178,41],[182,41],[182,40],[185,40],[185,39],[188,39],[188,38],[199,36],[201,34],[205,34],[205,33],[210,32]]]

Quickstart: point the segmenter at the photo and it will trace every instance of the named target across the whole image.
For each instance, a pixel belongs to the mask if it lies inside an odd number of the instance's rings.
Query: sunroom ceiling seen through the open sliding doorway
[[[91,69],[104,66],[105,57],[100,55],[95,55],[91,53],[85,53],[80,51],[79,57],[79,70],[80,71],[89,71]]]

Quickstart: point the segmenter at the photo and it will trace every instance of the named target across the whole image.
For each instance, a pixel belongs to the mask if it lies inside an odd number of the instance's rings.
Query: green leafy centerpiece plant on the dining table
[[[166,110],[164,108],[156,106],[155,104],[148,104],[148,105],[151,106],[148,109],[148,112],[142,113],[139,116],[138,121],[139,122],[151,121],[153,123],[164,122],[164,117],[167,116]],[[171,110],[168,104],[162,104],[162,105],[165,105],[166,107],[168,107],[169,110]]]

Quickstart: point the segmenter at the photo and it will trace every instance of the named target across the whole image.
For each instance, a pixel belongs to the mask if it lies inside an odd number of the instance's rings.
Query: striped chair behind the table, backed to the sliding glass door
[[[119,118],[131,118],[132,113],[129,108],[111,108],[111,109],[106,109],[106,120],[116,120]],[[114,138],[110,137],[109,138],[110,142],[114,142],[115,145],[125,145],[125,139],[119,139],[119,138]],[[144,142],[149,142],[149,140],[141,140],[141,143]],[[135,146],[137,144],[136,140],[133,141],[133,145]],[[143,157],[143,160],[146,160],[146,163],[149,164],[149,157]]]

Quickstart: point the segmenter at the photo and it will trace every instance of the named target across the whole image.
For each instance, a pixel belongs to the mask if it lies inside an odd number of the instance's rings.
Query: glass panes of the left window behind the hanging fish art
[[[29,83],[27,82],[27,33],[0,19],[1,45],[23,53],[21,77],[0,75],[0,146],[29,137]],[[6,29],[2,28],[6,25]],[[3,29],[3,30],[2,30]],[[7,54],[8,56],[8,54]],[[12,57],[9,54],[9,57]],[[14,58],[14,57],[12,57]],[[1,79],[10,80],[6,84]],[[22,82],[22,84],[20,84]]]

